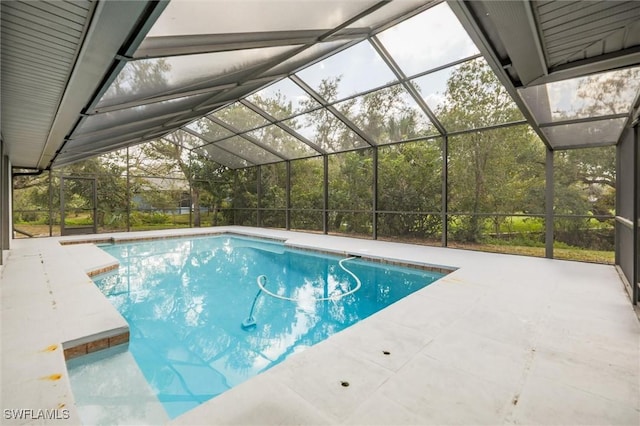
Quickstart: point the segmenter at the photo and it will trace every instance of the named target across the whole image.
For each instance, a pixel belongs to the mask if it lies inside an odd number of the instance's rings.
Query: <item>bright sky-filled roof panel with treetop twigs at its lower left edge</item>
[[[367,41],[345,49],[296,74],[328,102],[395,81],[395,76]]]

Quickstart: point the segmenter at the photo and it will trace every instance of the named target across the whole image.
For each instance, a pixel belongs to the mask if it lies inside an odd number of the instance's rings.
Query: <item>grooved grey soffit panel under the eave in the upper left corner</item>
[[[59,2],[2,3],[0,127],[16,166],[36,167],[41,157],[93,8],[79,4],[69,13]]]

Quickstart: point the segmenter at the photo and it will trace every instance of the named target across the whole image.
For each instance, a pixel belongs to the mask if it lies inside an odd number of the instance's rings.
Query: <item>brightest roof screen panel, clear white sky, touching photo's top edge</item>
[[[446,3],[441,3],[378,34],[407,76],[478,53]]]

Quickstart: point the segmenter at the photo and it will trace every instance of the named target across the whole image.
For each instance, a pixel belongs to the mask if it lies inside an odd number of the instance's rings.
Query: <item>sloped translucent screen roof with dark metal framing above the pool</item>
[[[239,168],[524,120],[448,114],[477,102],[460,69],[492,71],[439,1],[174,0],[122,61],[55,165],[164,137]],[[638,85],[626,69],[511,94],[571,148],[615,143]]]

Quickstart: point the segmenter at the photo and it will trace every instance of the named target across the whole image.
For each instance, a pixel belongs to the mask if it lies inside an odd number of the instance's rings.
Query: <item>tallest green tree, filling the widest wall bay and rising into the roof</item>
[[[447,82],[447,102],[439,109],[446,128],[467,129],[521,117],[484,61],[460,66]],[[449,140],[449,210],[459,213],[541,213],[544,211],[545,148],[528,126],[455,136]],[[481,239],[482,222],[462,216],[458,241]],[[496,216],[494,227],[500,227]]]

